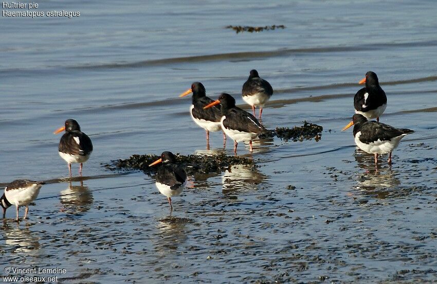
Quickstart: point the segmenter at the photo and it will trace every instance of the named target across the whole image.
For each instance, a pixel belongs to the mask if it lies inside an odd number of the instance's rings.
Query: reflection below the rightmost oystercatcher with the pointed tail
[[[386,198],[400,187],[398,172],[389,165],[378,165],[375,168],[374,158],[359,149],[355,150],[358,167],[367,170],[358,178],[357,189],[376,198]]]

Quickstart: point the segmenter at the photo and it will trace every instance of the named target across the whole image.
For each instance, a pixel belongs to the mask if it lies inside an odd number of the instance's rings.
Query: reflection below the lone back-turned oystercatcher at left
[[[80,185],[72,185],[68,183],[67,189],[61,191],[60,195],[61,204],[64,205],[63,211],[67,214],[80,214],[88,211],[93,204],[93,193],[86,185],[83,185],[83,181]]]

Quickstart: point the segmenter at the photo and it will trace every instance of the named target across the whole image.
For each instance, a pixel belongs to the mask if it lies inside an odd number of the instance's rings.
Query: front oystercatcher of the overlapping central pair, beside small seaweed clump
[[[222,93],[218,100],[211,102],[204,108],[211,108],[221,104],[222,129],[229,137],[234,140],[234,153],[240,141],[249,141],[250,152],[253,152],[252,140],[257,138],[266,129],[261,125],[256,117],[235,106],[235,99],[226,93]]]

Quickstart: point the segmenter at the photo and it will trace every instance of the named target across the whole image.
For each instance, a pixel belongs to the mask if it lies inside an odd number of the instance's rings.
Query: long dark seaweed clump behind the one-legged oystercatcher
[[[113,161],[113,165],[105,165],[110,170],[141,170],[145,174],[156,173],[159,166],[149,167],[160,156],[157,155],[132,155],[127,159]],[[176,155],[176,161],[183,166],[189,175],[196,173],[220,173],[233,165],[249,165],[257,167],[253,159],[241,156],[218,155]]]

